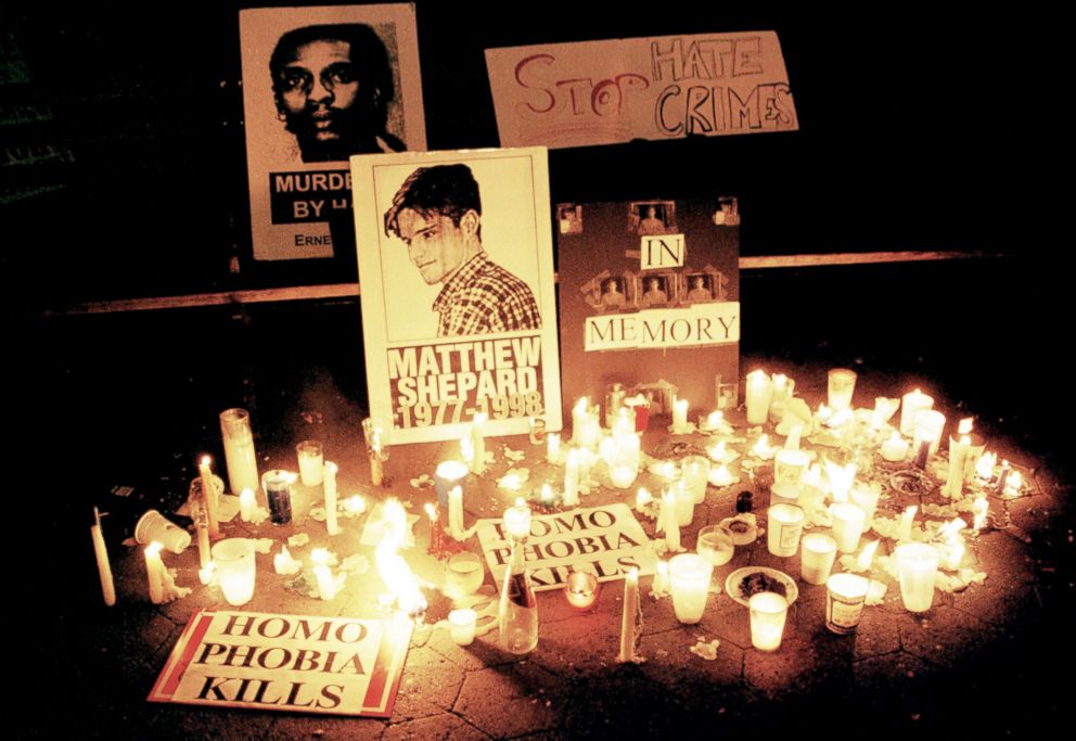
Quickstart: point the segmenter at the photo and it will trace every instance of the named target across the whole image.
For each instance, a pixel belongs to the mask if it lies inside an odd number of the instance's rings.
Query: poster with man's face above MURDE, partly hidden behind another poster
[[[239,21],[254,257],[331,257],[334,240],[350,255],[348,158],[426,148],[414,7],[266,8]]]

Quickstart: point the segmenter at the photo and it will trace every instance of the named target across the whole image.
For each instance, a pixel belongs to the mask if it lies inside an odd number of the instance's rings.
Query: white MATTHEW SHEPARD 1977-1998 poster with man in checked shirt
[[[561,429],[546,150],[356,156],[371,416],[389,443]]]

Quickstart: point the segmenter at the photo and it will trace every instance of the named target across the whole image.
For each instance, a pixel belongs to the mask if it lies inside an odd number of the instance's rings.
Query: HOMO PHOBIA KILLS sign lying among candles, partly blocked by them
[[[477,526],[486,565],[499,586],[512,554],[508,534],[501,520],[479,520]],[[612,582],[632,568],[640,576],[653,574],[657,563],[650,539],[622,503],[533,514],[524,560],[535,591],[563,587],[573,568]]]

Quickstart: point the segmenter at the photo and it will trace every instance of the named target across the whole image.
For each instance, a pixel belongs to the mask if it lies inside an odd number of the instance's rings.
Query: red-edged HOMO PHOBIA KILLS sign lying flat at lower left
[[[409,619],[202,610],[149,700],[387,718],[412,627]]]

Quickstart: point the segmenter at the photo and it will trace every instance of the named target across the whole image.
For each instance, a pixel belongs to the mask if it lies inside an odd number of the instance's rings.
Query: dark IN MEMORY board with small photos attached
[[[670,414],[736,406],[740,209],[734,197],[556,206],[566,404],[611,384]]]

